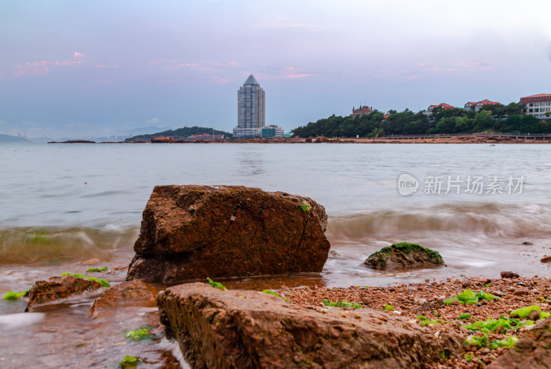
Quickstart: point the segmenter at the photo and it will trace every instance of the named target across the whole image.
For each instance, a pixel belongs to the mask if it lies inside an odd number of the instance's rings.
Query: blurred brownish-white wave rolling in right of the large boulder
[[[330,217],[328,236],[360,238],[370,234],[454,232],[497,237],[551,236],[548,205],[460,203],[417,210],[375,210]]]

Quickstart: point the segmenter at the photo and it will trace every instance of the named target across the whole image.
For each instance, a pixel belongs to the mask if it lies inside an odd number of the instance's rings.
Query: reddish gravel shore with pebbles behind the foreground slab
[[[466,289],[477,293],[484,290],[486,293],[499,298],[488,301],[479,300],[477,304],[444,304],[444,300],[453,298]],[[448,278],[443,281],[425,280],[419,284],[400,284],[391,287],[348,287],[329,289],[310,287],[304,289],[280,289],[280,295],[289,302],[311,306],[313,309],[344,309],[354,311],[354,307],[340,308],[327,306],[329,302],[351,302],[360,304],[363,308],[385,311],[388,315],[400,315],[418,324],[423,324],[435,331],[435,339],[439,332],[450,332],[468,339],[470,335],[482,337],[484,333],[472,331],[464,325],[488,318],[499,319],[509,317],[509,313],[526,306],[539,305],[541,311],[550,311],[548,303],[551,295],[551,279],[513,277],[513,278]],[[355,305],[355,307],[358,307]],[[459,319],[461,315],[470,317]],[[464,315],[465,317],[466,315]],[[426,318],[426,319],[425,319]],[[497,328],[495,332],[488,332],[488,342],[506,340],[508,337],[521,338],[531,326],[522,328]],[[490,348],[469,346],[466,344],[461,357],[450,357],[445,364],[427,363],[427,369],[435,368],[485,368],[497,357],[506,353],[509,348]]]

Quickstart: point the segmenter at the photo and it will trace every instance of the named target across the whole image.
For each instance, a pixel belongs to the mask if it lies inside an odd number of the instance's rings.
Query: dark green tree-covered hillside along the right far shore
[[[298,137],[374,137],[382,135],[432,135],[450,133],[476,133],[484,131],[509,133],[551,133],[551,120],[538,120],[533,115],[522,115],[522,104],[486,105],[475,112],[465,109],[438,107],[431,115],[425,111],[415,113],[389,111],[384,119],[380,111],[362,117],[335,116],[310,122],[291,131]]]

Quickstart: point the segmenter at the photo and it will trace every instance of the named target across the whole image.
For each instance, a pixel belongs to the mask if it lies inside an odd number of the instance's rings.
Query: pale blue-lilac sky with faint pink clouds
[[[551,1],[0,0],[0,133],[237,124],[551,93]]]

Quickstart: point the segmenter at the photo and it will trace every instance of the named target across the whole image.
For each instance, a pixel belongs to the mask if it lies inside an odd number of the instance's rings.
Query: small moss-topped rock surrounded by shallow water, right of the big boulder
[[[375,269],[393,269],[417,264],[445,265],[438,251],[406,242],[383,247],[364,262],[364,265]]]

